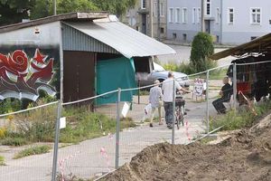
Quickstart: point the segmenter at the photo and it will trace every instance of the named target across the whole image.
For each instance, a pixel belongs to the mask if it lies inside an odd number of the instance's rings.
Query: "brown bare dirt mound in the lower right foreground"
[[[104,180],[271,180],[271,123],[238,132],[219,145],[157,144]]]

